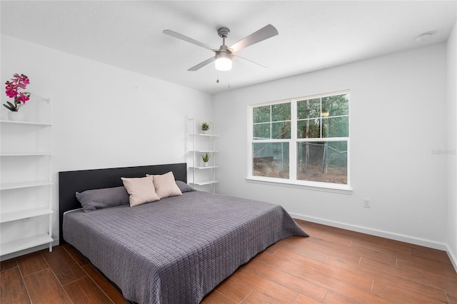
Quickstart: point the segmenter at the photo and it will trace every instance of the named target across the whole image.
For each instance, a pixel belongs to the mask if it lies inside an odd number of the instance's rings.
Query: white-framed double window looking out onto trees
[[[264,103],[250,110],[250,178],[348,186],[348,91]]]

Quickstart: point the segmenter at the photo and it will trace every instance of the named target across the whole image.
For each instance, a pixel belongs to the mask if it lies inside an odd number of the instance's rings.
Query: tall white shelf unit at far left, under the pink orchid
[[[51,104],[32,94],[37,121],[1,120],[0,255],[49,244],[52,250]],[[21,108],[23,110],[24,108]],[[44,122],[40,121],[44,120]],[[46,187],[45,189],[43,189]],[[34,222],[31,222],[34,221]],[[49,226],[46,221],[49,221]],[[31,223],[29,223],[31,222]],[[41,223],[41,225],[36,225]],[[46,227],[44,229],[35,228]],[[24,233],[24,235],[21,235]],[[30,235],[33,233],[34,235]],[[6,240],[5,240],[6,239]]]

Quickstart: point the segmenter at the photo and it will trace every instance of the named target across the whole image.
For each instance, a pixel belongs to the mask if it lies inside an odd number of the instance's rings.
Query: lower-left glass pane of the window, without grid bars
[[[253,143],[253,176],[288,178],[288,143]]]

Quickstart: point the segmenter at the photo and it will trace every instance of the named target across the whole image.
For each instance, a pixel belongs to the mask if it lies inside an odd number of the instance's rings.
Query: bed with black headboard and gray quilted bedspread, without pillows
[[[169,172],[182,195],[90,212],[76,199],[121,187],[121,177]],[[199,303],[269,245],[308,236],[281,206],[195,191],[186,180],[186,163],[59,172],[61,243],[89,258],[134,303]]]

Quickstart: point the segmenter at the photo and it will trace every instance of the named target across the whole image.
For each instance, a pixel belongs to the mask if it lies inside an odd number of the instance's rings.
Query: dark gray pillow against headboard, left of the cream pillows
[[[129,203],[129,193],[124,186],[76,192],[84,212]]]

